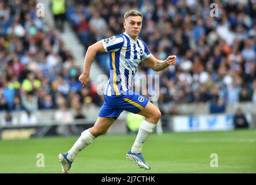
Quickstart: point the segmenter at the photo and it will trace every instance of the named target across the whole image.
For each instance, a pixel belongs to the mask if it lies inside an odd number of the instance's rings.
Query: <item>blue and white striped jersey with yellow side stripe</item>
[[[123,94],[131,87],[138,64],[151,53],[140,38],[135,41],[126,32],[103,39],[102,43],[109,52],[109,80],[104,95]]]

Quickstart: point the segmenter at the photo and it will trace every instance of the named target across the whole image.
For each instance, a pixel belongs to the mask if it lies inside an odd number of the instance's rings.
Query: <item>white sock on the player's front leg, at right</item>
[[[149,123],[148,121],[143,120],[140,124],[140,128],[138,129],[138,135],[135,139],[133,147],[131,147],[132,153],[141,153],[142,146],[145,140],[148,138],[149,134],[151,134],[156,127],[156,124]]]

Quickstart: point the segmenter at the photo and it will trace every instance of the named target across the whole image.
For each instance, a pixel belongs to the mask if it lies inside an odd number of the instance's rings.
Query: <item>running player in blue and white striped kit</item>
[[[142,14],[137,10],[128,10],[124,17],[123,34],[100,40],[87,49],[83,73],[79,77],[82,86],[85,87],[89,82],[90,67],[97,53],[109,53],[110,77],[104,88],[105,101],[96,123],[92,128],[82,132],[67,153],[58,155],[64,173],[70,171],[71,164],[79,151],[90,145],[98,136],[105,134],[123,110],[145,117],[126,158],[136,162],[140,168],[151,169],[142,157],[142,146],[155,129],[161,113],[147,98],[130,91],[129,88],[140,62],[146,62],[154,71],[162,71],[167,66],[176,64],[176,56],[169,56],[164,61],[157,60],[148,50],[147,45],[138,38],[142,27]]]

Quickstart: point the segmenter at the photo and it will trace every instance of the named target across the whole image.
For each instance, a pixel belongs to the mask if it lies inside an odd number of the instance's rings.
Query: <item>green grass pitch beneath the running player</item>
[[[78,136],[0,140],[0,173],[61,173],[57,155]],[[136,135],[104,135],[82,150],[70,173],[256,173],[256,129],[152,134],[143,147],[150,171],[126,160]],[[45,167],[38,168],[38,153]],[[218,167],[211,167],[212,153]]]

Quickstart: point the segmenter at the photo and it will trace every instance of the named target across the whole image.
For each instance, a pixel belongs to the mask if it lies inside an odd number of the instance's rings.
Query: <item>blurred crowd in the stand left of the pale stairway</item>
[[[82,88],[81,69],[60,32],[47,27],[36,10],[35,1],[0,1],[0,111],[101,103],[91,84]]]

